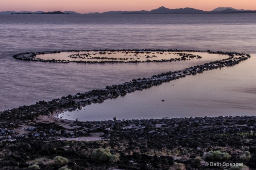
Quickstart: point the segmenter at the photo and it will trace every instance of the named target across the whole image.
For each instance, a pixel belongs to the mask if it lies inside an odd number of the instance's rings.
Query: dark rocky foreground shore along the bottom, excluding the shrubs
[[[51,162],[55,156],[63,156],[71,169],[169,169],[174,162],[186,169],[225,169],[207,167],[205,162],[256,168],[255,124],[255,116],[85,122],[40,116],[26,124],[6,124],[13,129],[18,126],[23,134],[16,134],[15,139],[15,134],[1,138],[0,163],[6,169],[27,169],[32,164],[40,169],[59,169]],[[97,148],[109,148],[119,160],[92,160]],[[228,152],[231,158],[195,161],[196,156],[203,158],[209,151]],[[245,152],[250,152],[250,159],[242,158]]]

